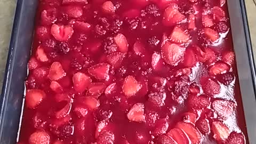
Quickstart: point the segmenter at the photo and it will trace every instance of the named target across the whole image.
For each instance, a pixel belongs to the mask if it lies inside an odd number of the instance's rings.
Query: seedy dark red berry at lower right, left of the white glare
[[[210,98],[204,95],[189,95],[188,97],[188,107],[195,109],[207,108],[211,105]]]

